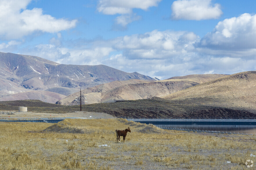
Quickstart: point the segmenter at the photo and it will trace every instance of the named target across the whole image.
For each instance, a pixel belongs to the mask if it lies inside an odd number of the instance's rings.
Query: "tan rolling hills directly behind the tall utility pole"
[[[206,79],[213,80],[216,77],[223,76],[224,75],[213,75],[211,78],[210,75],[207,75],[207,78],[205,78],[205,76],[201,75],[190,75],[190,77],[160,81],[115,81],[82,90],[82,104],[85,104],[84,96],[86,96],[86,104],[162,97],[195,86],[199,84],[197,82],[204,82]],[[57,103],[63,105],[77,105],[80,103],[80,92],[69,95]]]

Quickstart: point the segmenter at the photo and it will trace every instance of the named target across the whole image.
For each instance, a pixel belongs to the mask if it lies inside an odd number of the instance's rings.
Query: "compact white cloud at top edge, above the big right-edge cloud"
[[[217,19],[221,16],[221,6],[211,0],[178,0],[172,3],[172,18],[184,20]]]

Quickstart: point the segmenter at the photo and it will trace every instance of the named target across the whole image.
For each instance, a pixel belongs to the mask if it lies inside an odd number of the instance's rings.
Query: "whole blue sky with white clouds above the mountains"
[[[254,0],[1,0],[0,51],[158,79],[256,70]]]

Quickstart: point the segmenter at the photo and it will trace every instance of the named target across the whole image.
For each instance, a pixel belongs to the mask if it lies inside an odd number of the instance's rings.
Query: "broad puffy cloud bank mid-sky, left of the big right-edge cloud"
[[[198,40],[193,32],[157,31],[124,36],[113,45],[129,58],[166,58],[192,50]]]

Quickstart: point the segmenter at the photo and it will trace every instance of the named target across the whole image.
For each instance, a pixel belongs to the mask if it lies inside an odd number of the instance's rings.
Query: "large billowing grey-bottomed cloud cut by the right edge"
[[[212,32],[206,34],[198,47],[223,51],[248,51],[256,49],[256,15],[242,14],[220,21]]]

